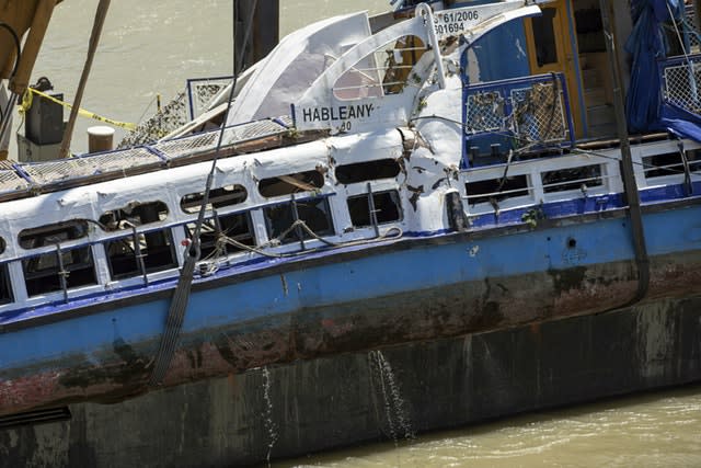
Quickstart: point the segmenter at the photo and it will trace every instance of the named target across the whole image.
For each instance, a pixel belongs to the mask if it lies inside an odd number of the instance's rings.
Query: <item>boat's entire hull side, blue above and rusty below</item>
[[[697,202],[646,208],[648,298],[701,294]],[[627,306],[637,271],[624,215],[414,236],[199,277],[164,385]],[[0,413],[147,391],[174,284],[5,315]]]

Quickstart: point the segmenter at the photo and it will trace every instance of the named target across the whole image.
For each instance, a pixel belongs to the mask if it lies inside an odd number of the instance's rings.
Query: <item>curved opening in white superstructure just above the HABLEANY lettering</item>
[[[426,45],[417,36],[393,41],[343,73],[335,82],[333,93],[346,101],[399,94],[412,81],[418,80],[412,77],[412,70],[425,52]]]

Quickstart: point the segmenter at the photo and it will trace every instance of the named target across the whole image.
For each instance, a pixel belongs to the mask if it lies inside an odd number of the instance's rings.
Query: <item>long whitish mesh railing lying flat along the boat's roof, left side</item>
[[[229,151],[266,138],[281,138],[290,129],[288,117],[262,119],[225,129],[222,140]],[[206,160],[214,155],[220,129],[159,141],[135,148],[74,156],[38,163],[0,165],[0,201],[53,192],[83,184],[166,169]]]

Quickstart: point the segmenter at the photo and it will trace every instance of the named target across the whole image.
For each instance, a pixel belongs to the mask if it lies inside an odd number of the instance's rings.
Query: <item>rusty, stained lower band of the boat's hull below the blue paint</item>
[[[652,259],[650,299],[701,294],[701,252]],[[683,279],[683,281],[681,281]],[[483,333],[628,306],[637,290],[632,262],[486,278],[304,308],[181,336],[163,385],[411,342]],[[0,415],[80,401],[116,402],[147,392],[158,340],[125,343],[97,358],[76,355],[43,369],[5,372]]]

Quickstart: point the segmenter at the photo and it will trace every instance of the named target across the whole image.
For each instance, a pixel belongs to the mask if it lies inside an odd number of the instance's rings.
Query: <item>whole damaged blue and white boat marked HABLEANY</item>
[[[289,35],[157,142],[3,164],[0,415],[701,293],[683,5],[617,16],[680,25],[629,73],[594,3],[410,3]]]

